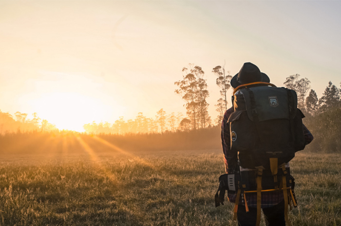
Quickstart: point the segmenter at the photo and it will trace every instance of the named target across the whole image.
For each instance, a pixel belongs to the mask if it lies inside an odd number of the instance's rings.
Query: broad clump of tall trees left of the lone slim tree
[[[205,128],[208,120],[208,103],[206,98],[209,96],[207,90],[205,72],[199,66],[189,64],[188,68],[183,68],[183,80],[179,80],[174,84],[179,87],[175,89],[175,93],[179,94],[186,102],[187,115],[193,123],[193,129]],[[200,123],[199,123],[200,122]]]

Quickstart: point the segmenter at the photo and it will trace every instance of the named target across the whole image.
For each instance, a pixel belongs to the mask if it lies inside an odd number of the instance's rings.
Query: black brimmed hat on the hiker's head
[[[244,63],[239,73],[233,76],[230,83],[231,87],[236,88],[240,85],[254,82],[269,83],[270,79],[265,73],[261,72],[256,65],[247,62]]]

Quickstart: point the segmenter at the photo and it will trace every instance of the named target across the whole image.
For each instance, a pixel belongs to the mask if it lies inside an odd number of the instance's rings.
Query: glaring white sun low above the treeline
[[[84,124],[107,119],[110,111],[100,100],[76,92],[46,93],[32,105],[40,118],[58,129],[77,132],[84,132]]]

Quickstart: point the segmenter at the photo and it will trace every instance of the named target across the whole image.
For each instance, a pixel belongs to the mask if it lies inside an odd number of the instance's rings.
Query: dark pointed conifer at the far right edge
[[[321,110],[325,111],[330,108],[334,108],[340,104],[340,90],[338,87],[333,85],[332,82],[329,81],[328,86],[324,89],[322,97],[320,99]]]

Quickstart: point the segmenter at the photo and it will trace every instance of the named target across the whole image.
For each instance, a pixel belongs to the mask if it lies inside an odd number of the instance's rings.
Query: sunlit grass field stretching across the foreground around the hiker
[[[220,150],[94,155],[2,156],[0,225],[237,225],[232,204],[214,207]],[[292,225],[341,225],[340,162],[304,152],[292,160]]]

